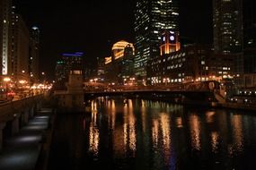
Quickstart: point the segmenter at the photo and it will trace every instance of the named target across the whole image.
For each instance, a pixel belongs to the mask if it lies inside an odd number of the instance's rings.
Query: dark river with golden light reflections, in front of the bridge
[[[256,113],[124,98],[84,109],[57,115],[50,170],[256,169]]]

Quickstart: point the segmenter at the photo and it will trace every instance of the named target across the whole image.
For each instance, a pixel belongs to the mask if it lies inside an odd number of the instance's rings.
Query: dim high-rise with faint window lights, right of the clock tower
[[[243,1],[213,0],[214,48],[217,54],[243,49]]]

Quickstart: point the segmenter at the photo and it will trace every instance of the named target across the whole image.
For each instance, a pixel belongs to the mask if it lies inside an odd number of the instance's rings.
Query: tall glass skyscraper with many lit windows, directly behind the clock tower
[[[147,61],[160,55],[159,46],[163,31],[179,29],[177,2],[177,0],[137,0],[134,25],[136,34],[134,69],[137,76],[146,78]]]

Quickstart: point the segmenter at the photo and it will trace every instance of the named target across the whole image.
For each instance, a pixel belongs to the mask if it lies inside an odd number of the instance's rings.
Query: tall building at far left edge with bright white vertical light
[[[0,0],[0,72],[1,75],[8,75],[10,67],[10,29],[11,29],[11,11],[12,11],[12,1],[11,0]]]

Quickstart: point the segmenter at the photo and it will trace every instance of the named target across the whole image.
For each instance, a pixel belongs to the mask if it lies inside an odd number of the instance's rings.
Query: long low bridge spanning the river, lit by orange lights
[[[219,88],[218,81],[203,81],[182,83],[172,86],[91,86],[85,87],[85,97],[101,96],[163,96],[178,98],[209,98],[215,89]],[[211,97],[212,98],[212,97]]]

